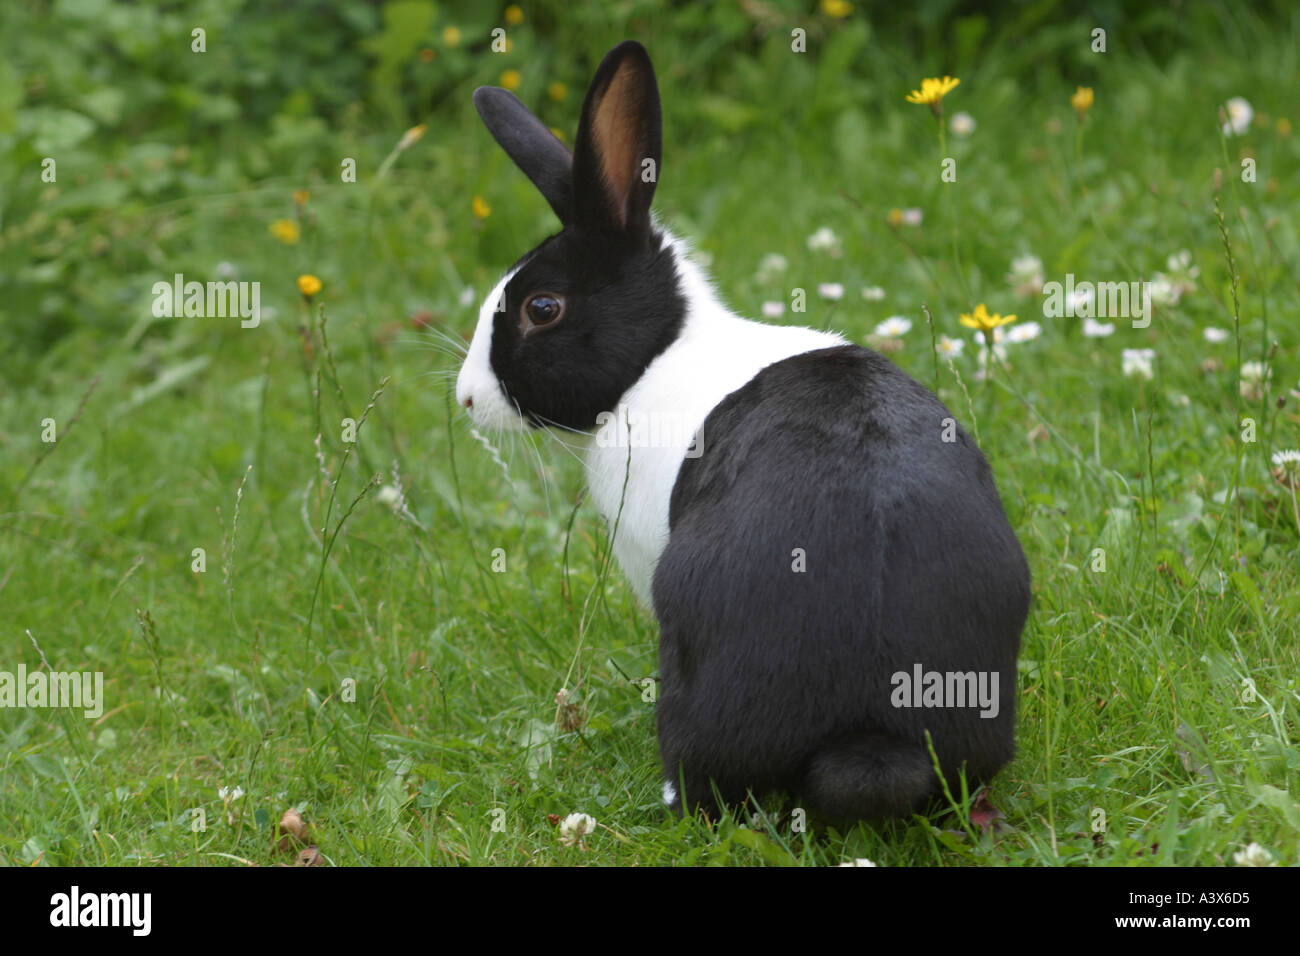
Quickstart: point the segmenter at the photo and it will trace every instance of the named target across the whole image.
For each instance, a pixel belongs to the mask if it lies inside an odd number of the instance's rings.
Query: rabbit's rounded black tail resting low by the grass
[[[802,797],[829,819],[909,817],[939,792],[924,747],[888,734],[866,734],[819,750],[803,777]]]

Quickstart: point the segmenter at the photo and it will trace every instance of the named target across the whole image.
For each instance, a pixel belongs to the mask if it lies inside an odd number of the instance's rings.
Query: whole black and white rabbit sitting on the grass
[[[974,441],[880,355],[719,302],[650,215],[641,44],[602,61],[572,153],[506,90],[474,105],[563,229],[488,295],[456,399],[480,427],[590,436],[592,497],[659,620],[664,800],[905,816],[940,792],[927,731],[954,791],[961,770],[992,777],[1014,752],[1030,576]],[[676,428],[598,441],[619,408],[624,429]],[[916,706],[898,675],[922,672],[997,675],[998,701]]]

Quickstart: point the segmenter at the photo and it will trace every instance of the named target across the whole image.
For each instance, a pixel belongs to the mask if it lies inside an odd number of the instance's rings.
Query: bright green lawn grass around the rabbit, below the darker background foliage
[[[666,108],[658,211],[724,299],[757,316],[798,286],[807,312],[783,321],[859,342],[904,315],[890,358],[978,425],[1035,593],[996,836],[965,809],[811,834],[777,800],[757,826],[664,817],[644,683],[656,628],[610,566],[580,467],[546,436],[473,434],[450,394],[477,299],[554,228],[465,104],[382,178],[364,170],[400,129],[363,139],[358,183],[294,168],[98,217],[46,190],[49,242],[60,219],[113,242],[82,273],[95,281],[52,289],[79,324],[4,360],[0,667],[35,669],[35,644],[53,669],[103,671],[107,704],[95,721],[0,711],[0,862],[269,865],[290,858],[272,849],[290,806],[335,865],[1217,865],[1249,843],[1296,862],[1300,537],[1269,460],[1300,446],[1300,139],[1278,125],[1300,117],[1275,83],[1296,75],[1295,33],[1260,25],[1160,62],[1117,48],[1089,66],[1082,135],[1072,86],[980,61],[945,100],[978,121],[948,137],[954,183],[935,120],[904,103],[931,64],[884,47],[807,100],[820,64],[783,77],[776,38],[737,66],[760,105],[727,131],[701,112],[738,99],[710,100],[670,36],[644,38]],[[841,57],[854,70],[866,42]],[[577,92],[558,108],[569,135]],[[1256,125],[1223,138],[1232,95]],[[287,246],[268,225],[300,187]],[[907,207],[922,225],[890,226]],[[806,247],[820,226],[840,258]],[[1150,278],[1184,248],[1195,287],[1108,338],[1043,319],[1005,278],[1023,252],[1048,280]],[[760,281],[771,252],[788,271]],[[218,263],[260,280],[274,316],[151,317],[153,281]],[[324,282],[311,306],[300,273]],[[1043,325],[988,382],[968,338],[933,360],[922,312],[968,336],[958,315],[979,302]],[[1212,345],[1206,325],[1232,338]],[[1124,376],[1121,350],[1143,347],[1154,376]],[[1273,377],[1247,398],[1249,360]],[[549,816],[577,810],[599,827],[562,845]]]

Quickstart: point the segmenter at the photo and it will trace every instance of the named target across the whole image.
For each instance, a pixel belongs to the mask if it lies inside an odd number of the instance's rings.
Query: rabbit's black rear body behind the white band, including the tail
[[[1028,568],[948,408],[845,346],[768,365],[703,434],[654,576],[659,743],[686,805],[711,808],[712,779],[727,803],[784,790],[836,819],[906,814],[939,790],[927,730],[954,792],[959,769],[1010,760]],[[915,663],[998,672],[998,714],[893,706]]]

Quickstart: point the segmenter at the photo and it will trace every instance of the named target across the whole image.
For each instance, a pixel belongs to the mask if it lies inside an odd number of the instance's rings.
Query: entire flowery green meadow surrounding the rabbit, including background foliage
[[[0,670],[104,700],[0,708],[0,864],[1300,862],[1300,14],[953,9],[5,4]],[[667,817],[654,615],[572,449],[456,407],[558,228],[471,92],[571,142],[625,38],[722,298],[885,352],[989,458],[1034,605],[978,801]],[[156,315],[177,274],[260,320]]]

